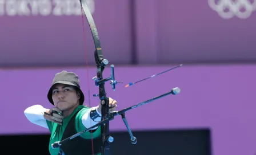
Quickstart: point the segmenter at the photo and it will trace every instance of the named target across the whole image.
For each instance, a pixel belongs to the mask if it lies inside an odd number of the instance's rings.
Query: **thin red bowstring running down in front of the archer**
[[[91,108],[91,101],[90,101],[90,84],[89,84],[89,65],[88,65],[88,57],[87,57],[87,50],[86,50],[86,35],[85,35],[85,22],[83,19],[83,9],[82,9],[82,3],[81,3],[81,14],[82,14],[82,22],[83,22],[83,39],[85,42],[85,59],[86,59],[86,71],[87,71],[87,88],[88,88],[88,99],[89,99],[89,107]],[[90,120],[90,126],[91,126],[91,120]],[[91,150],[94,155],[94,149],[93,149],[93,131],[91,130]]]

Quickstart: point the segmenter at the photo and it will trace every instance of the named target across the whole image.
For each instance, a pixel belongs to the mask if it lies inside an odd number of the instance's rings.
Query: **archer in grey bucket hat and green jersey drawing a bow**
[[[53,108],[46,109],[42,105],[33,105],[26,108],[24,113],[31,123],[50,130],[50,154],[57,155],[60,151],[66,155],[101,154],[101,127],[95,127],[90,132],[63,143],[58,149],[51,148],[51,144],[101,121],[101,108],[105,101],[92,108],[83,105],[85,96],[81,91],[78,76],[67,71],[55,74],[47,97],[54,105]],[[114,111],[117,108],[117,101],[109,98],[109,107],[110,111]]]

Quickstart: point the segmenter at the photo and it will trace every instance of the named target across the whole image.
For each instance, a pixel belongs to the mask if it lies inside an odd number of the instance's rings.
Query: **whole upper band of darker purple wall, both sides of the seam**
[[[223,19],[206,0],[134,3],[132,7],[129,0],[95,1],[93,17],[110,62],[131,63],[134,41],[141,64],[256,60],[255,11],[246,19]],[[79,7],[77,15],[53,15],[55,9],[48,16],[13,17],[5,11],[0,25],[0,65],[84,64],[84,44],[89,63],[94,63],[93,39],[85,21],[84,43]]]

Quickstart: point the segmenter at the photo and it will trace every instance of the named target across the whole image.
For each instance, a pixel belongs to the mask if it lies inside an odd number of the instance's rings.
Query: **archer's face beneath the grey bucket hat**
[[[54,85],[52,98],[55,107],[61,111],[69,110],[75,105],[79,105],[79,95],[74,87],[65,84]]]

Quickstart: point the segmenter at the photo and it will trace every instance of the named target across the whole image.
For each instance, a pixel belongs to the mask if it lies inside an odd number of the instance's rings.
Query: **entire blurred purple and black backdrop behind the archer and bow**
[[[253,0],[87,0],[103,56],[115,64],[118,110],[181,88],[110,123],[115,154],[253,155],[256,153],[256,2]],[[85,17],[85,16],[84,16]],[[57,72],[78,74],[85,104],[99,103],[94,42],[78,0],[0,0],[1,150],[49,154],[49,130],[23,111],[51,108]],[[85,40],[84,40],[85,35]],[[88,67],[86,67],[88,63]],[[183,64],[153,79],[124,86]],[[87,72],[88,71],[88,72]],[[89,74],[89,79],[87,78]],[[110,76],[110,65],[103,72]],[[37,152],[35,152],[37,151]]]

